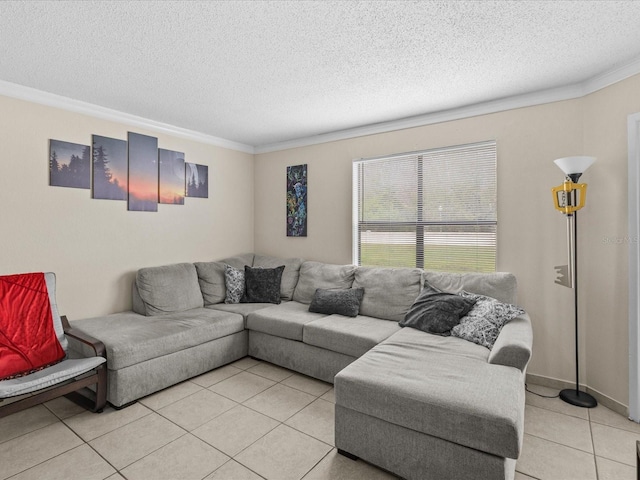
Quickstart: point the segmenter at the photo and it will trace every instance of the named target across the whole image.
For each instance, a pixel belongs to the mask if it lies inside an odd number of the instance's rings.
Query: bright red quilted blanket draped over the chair
[[[44,273],[0,276],[0,380],[59,362]]]

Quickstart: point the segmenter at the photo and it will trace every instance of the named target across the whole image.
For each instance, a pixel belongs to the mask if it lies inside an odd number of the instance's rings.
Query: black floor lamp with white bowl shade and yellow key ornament
[[[567,217],[567,244],[569,264],[555,267],[558,278],[556,283],[573,289],[574,321],[576,333],[576,388],[567,388],[560,392],[560,398],[571,405],[593,408],[598,405],[595,398],[580,391],[580,367],[578,361],[578,210],[584,207],[587,198],[587,184],[577,183],[584,171],[595,162],[595,157],[565,157],[554,163],[565,173],[562,185],[553,187],[553,201],[557,210]]]

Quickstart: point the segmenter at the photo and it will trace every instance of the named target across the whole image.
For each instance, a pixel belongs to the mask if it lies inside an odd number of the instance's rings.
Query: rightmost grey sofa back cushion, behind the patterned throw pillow
[[[518,282],[512,273],[448,273],[425,270],[423,277],[423,280],[443,292],[460,293],[464,290],[486,295],[503,303],[517,303]]]

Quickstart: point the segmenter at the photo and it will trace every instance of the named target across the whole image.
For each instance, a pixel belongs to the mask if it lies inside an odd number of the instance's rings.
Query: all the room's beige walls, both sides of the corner
[[[627,404],[626,122],[640,111],[638,92],[640,75],[581,99],[255,157],[0,96],[0,274],[56,272],[58,302],[74,319],[129,308],[144,266],[254,249],[350,263],[353,159],[495,139],[498,270],[517,275],[519,303],[533,320],[529,373],[572,381],[572,291],[554,283],[553,269],[566,263],[565,219],[550,188],[562,182],[555,158],[595,155],[581,179],[589,184],[579,220],[581,378]],[[89,144],[92,134],[126,139],[127,131],[209,165],[209,199],[128,212],[88,190],[48,186],[49,139]],[[309,166],[309,236],[287,238],[285,171],[301,163]]]

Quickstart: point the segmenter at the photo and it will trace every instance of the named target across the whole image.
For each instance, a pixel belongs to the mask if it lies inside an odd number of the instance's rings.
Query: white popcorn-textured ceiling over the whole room
[[[0,1],[0,80],[250,146],[638,58],[638,1]]]

